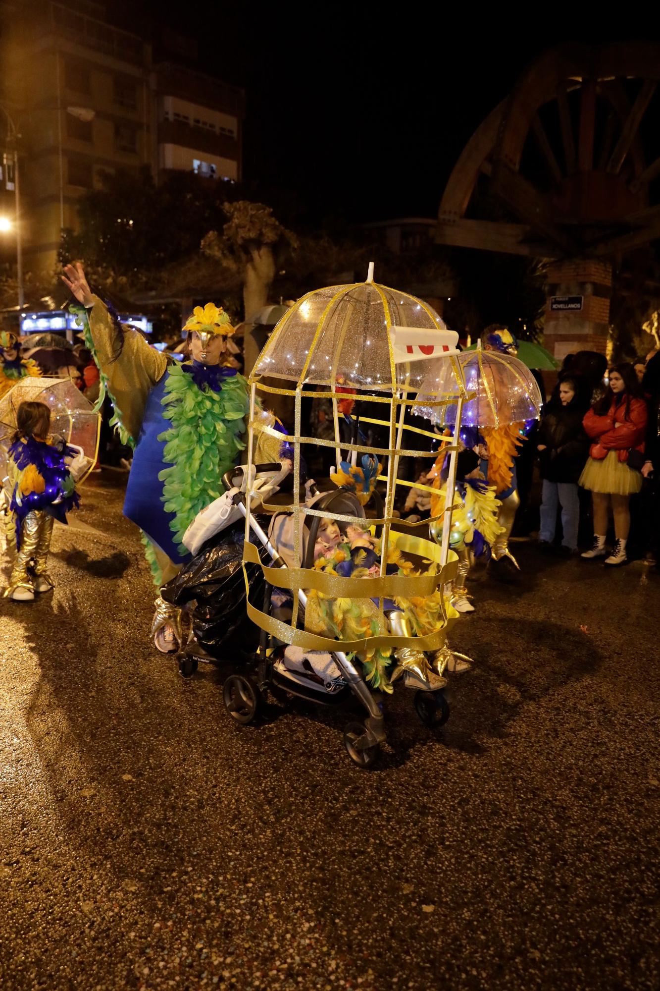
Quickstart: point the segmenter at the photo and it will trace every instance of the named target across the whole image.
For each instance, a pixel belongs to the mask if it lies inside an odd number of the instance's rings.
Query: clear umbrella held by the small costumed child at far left
[[[0,477],[7,475],[7,451],[22,402],[44,402],[51,410],[51,433],[80,448],[91,470],[98,453],[100,416],[70,379],[18,379],[0,399]],[[84,478],[84,476],[83,476]]]

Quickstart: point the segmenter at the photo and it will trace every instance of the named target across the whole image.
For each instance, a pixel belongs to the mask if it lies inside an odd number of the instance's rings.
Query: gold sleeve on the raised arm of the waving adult
[[[151,348],[137,330],[125,330],[121,350],[117,327],[102,299],[94,296],[89,311],[98,366],[108,381],[121,421],[129,434],[138,439],[145,415],[147,396],[165,375],[167,360]]]

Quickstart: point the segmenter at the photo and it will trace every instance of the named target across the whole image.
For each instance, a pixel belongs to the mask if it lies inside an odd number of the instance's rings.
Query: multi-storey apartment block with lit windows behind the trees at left
[[[241,90],[156,61],[151,42],[113,26],[93,0],[0,0],[0,26],[27,271],[53,269],[61,230],[75,229],[76,201],[103,172],[146,165],[157,180],[172,168],[240,178]]]

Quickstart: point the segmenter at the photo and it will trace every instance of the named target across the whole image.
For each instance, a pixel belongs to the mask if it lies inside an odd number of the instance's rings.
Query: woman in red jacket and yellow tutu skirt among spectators
[[[648,410],[632,365],[609,370],[609,385],[586,414],[583,425],[592,441],[580,485],[594,500],[594,545],[583,558],[605,558],[606,565],[625,564],[625,544],[630,529],[629,499],[642,486],[641,472],[628,462],[643,462]],[[605,535],[611,502],[616,543],[607,556]]]

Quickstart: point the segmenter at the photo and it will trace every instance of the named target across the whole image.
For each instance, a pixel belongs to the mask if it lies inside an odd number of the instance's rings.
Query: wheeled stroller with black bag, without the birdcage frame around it
[[[281,474],[281,464],[257,465],[258,478],[270,479]],[[247,518],[247,471],[244,466],[228,473],[223,484],[225,498],[240,514]],[[374,500],[378,515],[382,514],[381,496],[375,491]],[[311,503],[318,512],[351,515],[366,519],[365,507],[356,495],[341,490],[314,493]],[[251,514],[251,535],[259,544],[246,544],[243,527],[239,529],[230,521],[226,529],[210,540],[202,551],[163,590],[164,599],[173,606],[187,610],[191,619],[190,637],[177,657],[179,671],[189,677],[197,670],[199,660],[222,661],[230,657],[235,668],[225,680],[223,701],[230,716],[240,723],[253,722],[263,713],[270,693],[283,702],[288,696],[296,696],[317,705],[346,707],[352,699],[366,710],[363,722],[351,719],[344,729],[344,745],[352,760],[360,767],[371,767],[378,758],[381,743],[385,740],[384,695],[368,686],[361,671],[360,662],[352,660],[346,651],[335,649],[306,650],[294,644],[279,641],[266,629],[245,623],[245,609],[257,617],[257,603],[261,597],[262,614],[274,618],[274,625],[282,620],[273,614],[274,589],[291,585],[285,575],[288,569],[285,557],[290,552],[290,527],[279,524],[289,519],[287,513],[271,517],[269,530],[265,520]],[[313,566],[314,546],[321,521],[320,515],[312,518],[309,528],[303,527],[303,567]],[[275,535],[285,534],[283,546],[274,542]],[[247,550],[247,548],[250,550]],[[281,551],[281,553],[280,553]],[[241,561],[248,557],[246,573]],[[270,562],[270,567],[264,561]],[[257,561],[259,564],[257,564]],[[262,567],[260,567],[262,565]],[[281,574],[276,574],[281,569]],[[456,564],[450,563],[442,579],[451,581]],[[266,578],[262,576],[267,576]],[[350,581],[350,580],[349,580]],[[369,581],[354,579],[354,582]],[[297,590],[301,616],[307,605],[307,594]],[[386,615],[387,613],[385,613]],[[390,613],[391,614],[391,613]],[[261,633],[259,642],[251,642],[251,634]],[[241,646],[236,642],[236,633]],[[300,631],[302,633],[302,631]],[[303,639],[315,640],[302,634]],[[252,648],[252,649],[251,649]],[[238,656],[237,656],[238,655]],[[405,680],[405,678],[404,678]],[[449,718],[449,704],[445,697],[444,679],[433,676],[426,683],[415,680],[414,708],[419,718],[429,726],[441,726]],[[436,687],[437,686],[437,687]]]

